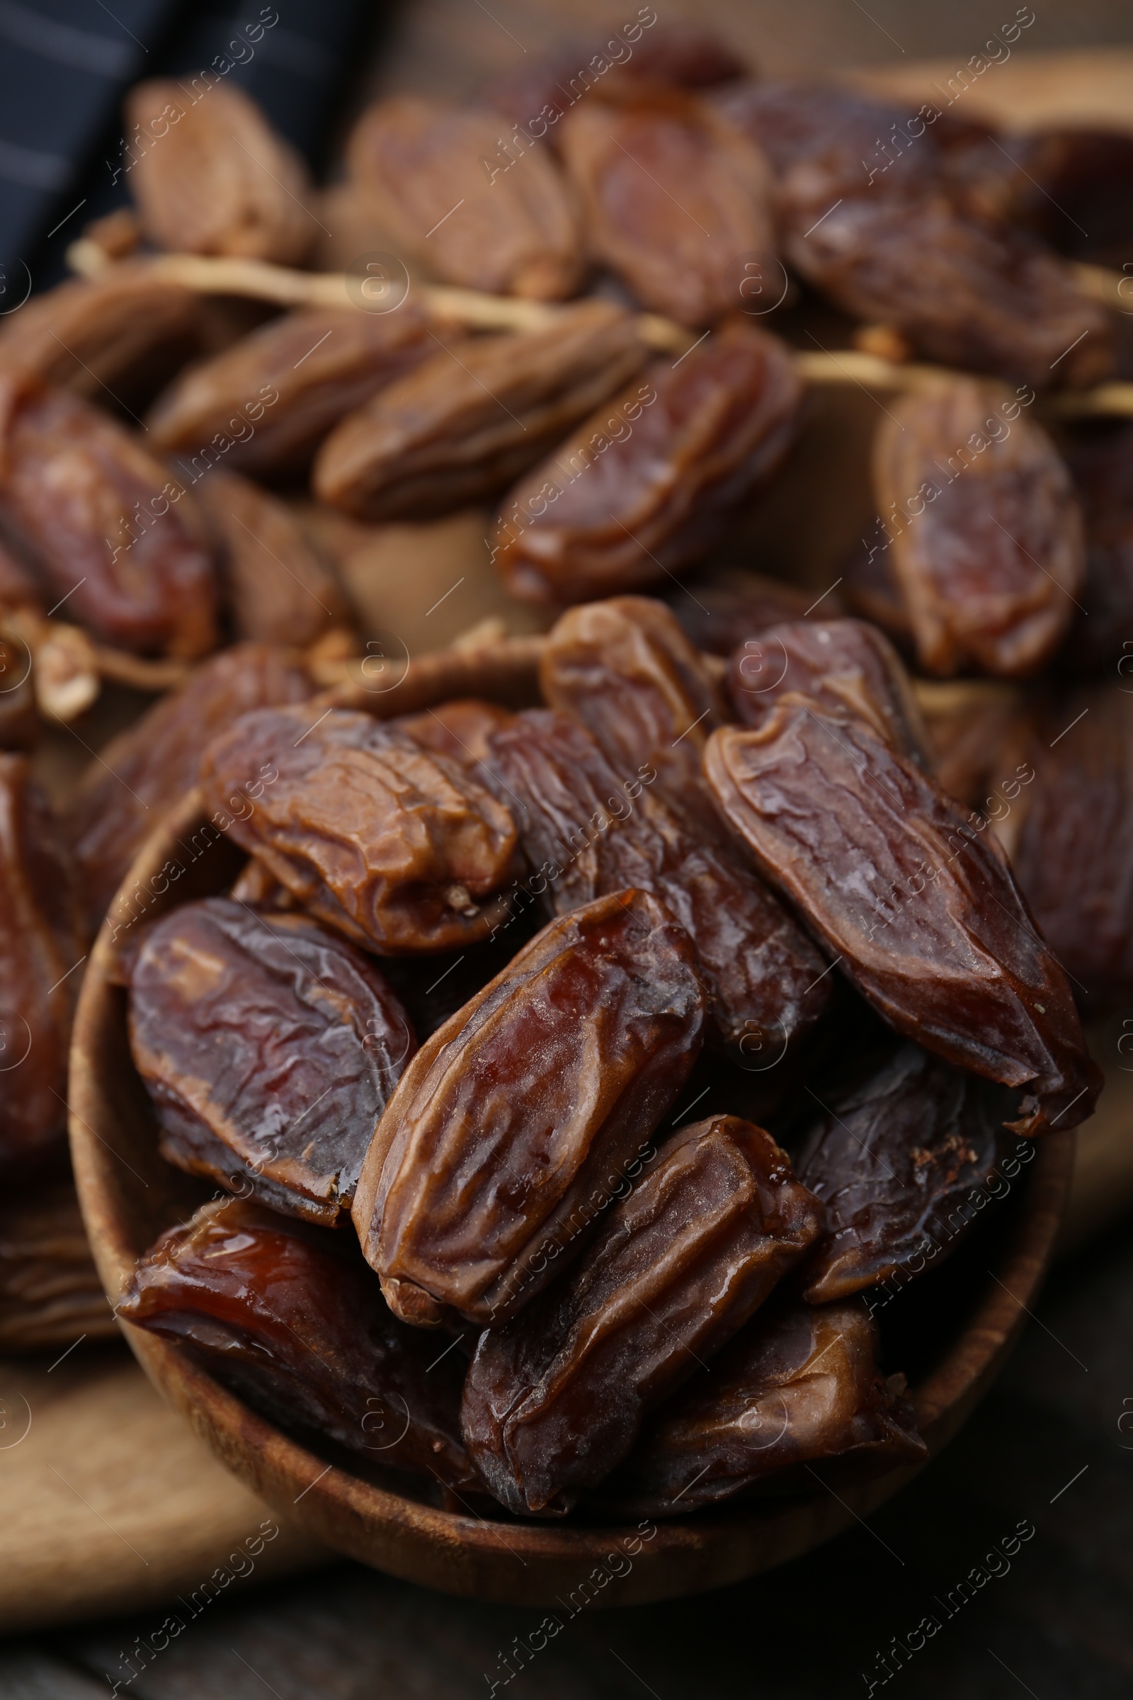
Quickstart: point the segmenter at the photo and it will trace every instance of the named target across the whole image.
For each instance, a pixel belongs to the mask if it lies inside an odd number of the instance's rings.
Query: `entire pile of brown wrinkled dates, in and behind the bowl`
[[[647,7],[474,105],[379,102],[326,192],[228,87],[129,116],[97,275],[0,332],[0,1340],[5,1294],[24,1345],[92,1312],[59,1141],[102,925],[207,1197],[119,1314],[270,1421],[499,1516],[921,1462],[919,1295],[1133,998],[1133,423],[1041,394],[1123,372],[1089,277],[1133,144],[905,124]],[[323,194],[408,292],[155,260],[326,270]],[[734,539],[807,434],[815,296],[939,364],[810,595]],[[469,507],[538,692],[392,712],[326,539]],[[49,801],[122,687],[165,694]],[[127,874],[194,787],[238,872],[170,867],[155,916]]]

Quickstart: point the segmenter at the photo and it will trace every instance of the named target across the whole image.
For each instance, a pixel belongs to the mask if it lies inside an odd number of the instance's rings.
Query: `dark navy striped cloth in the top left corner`
[[[374,0],[0,0],[0,311],[58,282],[68,241],[127,201],[132,82],[211,66],[318,167],[375,15]]]

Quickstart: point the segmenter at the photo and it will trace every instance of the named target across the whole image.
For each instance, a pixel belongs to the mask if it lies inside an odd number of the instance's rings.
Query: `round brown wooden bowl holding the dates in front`
[[[537,700],[538,639],[481,651],[442,651],[409,668],[394,688],[369,700],[382,716],[454,695]],[[365,687],[340,700],[362,704]],[[243,862],[226,838],[202,831],[195,794],[160,824],[139,852],[93,947],[71,1051],[71,1151],[90,1243],[110,1302],[117,1302],[141,1253],[183,1221],[206,1188],[158,1156],[156,1122],[132,1066],[126,993],[114,981],[129,928],[190,898],[223,891]],[[978,1266],[967,1319],[938,1362],[914,1384],[929,1452],[956,1433],[1001,1370],[1043,1278],[1065,1210],[1072,1134],[1045,1134],[1014,1216]],[[938,1280],[939,1277],[926,1277]],[[700,1511],[640,1527],[462,1516],[389,1491],[290,1440],[206,1374],[183,1346],[126,1326],[151,1380],[195,1433],[253,1493],[299,1518],[333,1547],[394,1576],[447,1593],[513,1605],[593,1600],[630,1605],[739,1581],[793,1559],[865,1516],[916,1469],[902,1467],[839,1494]],[[629,1567],[627,1567],[629,1566]]]

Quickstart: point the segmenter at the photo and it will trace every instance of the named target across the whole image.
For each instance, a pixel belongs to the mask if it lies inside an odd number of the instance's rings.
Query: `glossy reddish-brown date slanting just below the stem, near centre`
[[[725,320],[642,379],[504,500],[494,559],[516,597],[586,602],[664,583],[790,447],[802,382],[786,347],[749,320]]]

